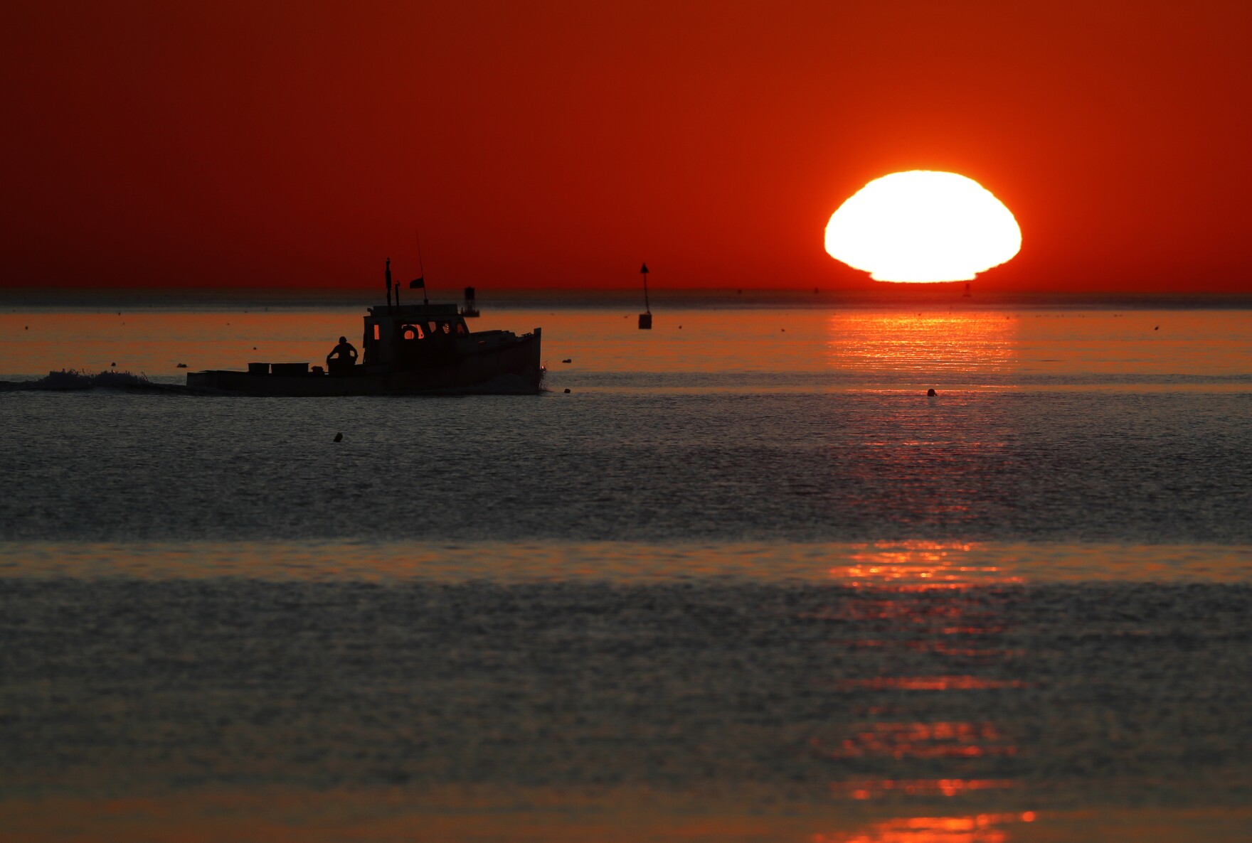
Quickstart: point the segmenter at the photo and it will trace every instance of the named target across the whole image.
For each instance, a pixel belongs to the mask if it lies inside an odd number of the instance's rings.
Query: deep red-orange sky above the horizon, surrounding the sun
[[[44,3],[0,285],[865,286],[873,178],[1017,215],[984,289],[1252,291],[1252,4]]]

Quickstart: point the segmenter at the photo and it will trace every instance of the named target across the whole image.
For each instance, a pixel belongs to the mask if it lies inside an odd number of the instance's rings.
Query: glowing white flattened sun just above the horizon
[[[955,173],[874,179],[826,224],[826,251],[878,281],[968,281],[1009,260],[1022,229],[999,199]]]

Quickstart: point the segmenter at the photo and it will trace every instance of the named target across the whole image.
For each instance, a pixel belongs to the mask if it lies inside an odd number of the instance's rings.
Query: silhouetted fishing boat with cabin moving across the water
[[[418,279],[421,280],[421,279]],[[417,284],[418,281],[413,281]],[[192,371],[187,385],[244,395],[521,395],[540,391],[542,329],[471,331],[454,304],[392,304],[369,308],[363,354],[308,363],[249,363],[247,371]],[[397,299],[399,291],[397,290]],[[341,338],[342,340],[343,338]]]

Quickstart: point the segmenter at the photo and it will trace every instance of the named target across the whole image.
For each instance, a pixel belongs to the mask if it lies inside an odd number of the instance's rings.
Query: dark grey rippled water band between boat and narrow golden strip
[[[1252,393],[18,393],[0,427],[9,540],[1252,542]]]

